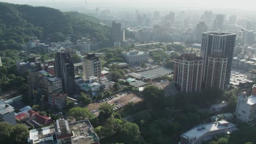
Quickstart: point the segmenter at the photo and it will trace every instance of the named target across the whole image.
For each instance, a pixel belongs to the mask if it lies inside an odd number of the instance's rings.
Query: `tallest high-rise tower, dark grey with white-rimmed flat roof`
[[[204,59],[203,83],[206,87],[229,86],[236,34],[207,32],[202,34],[201,57]]]

